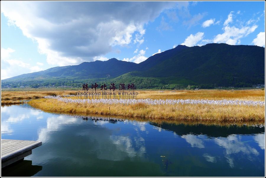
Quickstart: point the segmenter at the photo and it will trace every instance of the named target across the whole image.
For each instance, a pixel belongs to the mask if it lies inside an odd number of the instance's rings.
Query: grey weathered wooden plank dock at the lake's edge
[[[41,141],[1,139],[1,168],[23,160],[32,153],[32,149],[41,145]]]

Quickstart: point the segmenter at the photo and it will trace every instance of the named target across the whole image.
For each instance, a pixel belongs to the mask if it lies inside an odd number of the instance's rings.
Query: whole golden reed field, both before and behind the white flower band
[[[265,120],[265,106],[216,105],[216,104],[103,104],[65,103],[56,99],[44,99],[48,95],[75,94],[78,91],[2,91],[1,105],[20,104],[30,100],[32,107],[47,112],[77,115],[110,115],[146,118],[149,120],[205,120],[205,121],[259,121]],[[81,91],[79,91],[81,92]],[[99,91],[100,92],[100,91]],[[250,100],[265,101],[264,90],[176,90],[176,91],[135,91],[137,99],[209,99],[209,100]],[[68,97],[76,99],[76,97]],[[99,97],[101,98],[101,97]]]

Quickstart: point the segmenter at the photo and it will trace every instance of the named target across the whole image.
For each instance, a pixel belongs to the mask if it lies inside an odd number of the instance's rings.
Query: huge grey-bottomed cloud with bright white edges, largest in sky
[[[6,1],[1,12],[10,24],[38,43],[48,64],[93,61],[113,46],[144,42],[144,24],[179,2]],[[134,10],[132,10],[134,9]],[[148,10],[147,10],[148,9]]]

